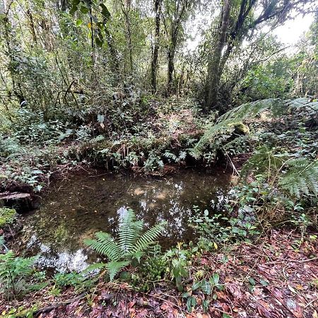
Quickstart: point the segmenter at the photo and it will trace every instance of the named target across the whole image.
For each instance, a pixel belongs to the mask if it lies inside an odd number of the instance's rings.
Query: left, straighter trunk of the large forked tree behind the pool
[[[220,84],[220,61],[222,51],[225,47],[226,35],[228,32],[228,25],[230,20],[230,0],[225,0],[222,9],[220,30],[216,40],[216,49],[208,64],[208,82],[206,88],[206,107],[211,108],[216,104],[218,97],[218,88]]]

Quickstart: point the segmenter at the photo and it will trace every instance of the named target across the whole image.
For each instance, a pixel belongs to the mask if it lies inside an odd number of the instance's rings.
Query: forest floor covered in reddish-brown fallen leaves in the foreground
[[[204,295],[192,290],[193,281],[189,281],[184,291],[196,299],[193,312],[189,312],[184,293],[178,293],[169,281],[156,283],[148,293],[138,293],[128,283],[105,283],[102,280],[88,293],[80,295],[76,295],[72,288],[64,290],[59,296],[40,290],[21,301],[2,302],[0,312],[6,316],[10,308],[23,306],[37,307],[34,317],[41,318],[317,318],[316,235],[302,236],[293,230],[271,230],[269,235],[254,244],[242,242],[226,252],[208,252],[194,258],[190,271],[202,271],[204,276],[218,273],[220,285],[212,289],[211,295]],[[205,312],[202,306],[204,300],[209,300]]]

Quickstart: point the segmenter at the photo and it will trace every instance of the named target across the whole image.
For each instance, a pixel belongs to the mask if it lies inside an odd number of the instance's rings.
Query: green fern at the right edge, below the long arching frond
[[[286,161],[287,171],[281,174],[278,184],[291,195],[318,195],[318,160],[294,158]]]

